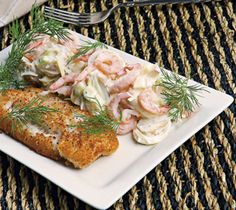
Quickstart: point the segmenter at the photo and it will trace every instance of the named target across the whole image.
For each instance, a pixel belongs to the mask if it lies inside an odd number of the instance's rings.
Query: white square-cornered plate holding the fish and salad
[[[91,40],[79,36],[82,40]],[[127,63],[148,63],[123,51],[110,49],[119,53]],[[0,52],[0,62],[7,58],[8,52],[9,48]],[[194,81],[190,83],[197,84]],[[204,92],[199,98],[202,104],[199,110],[174,126],[161,143],[143,146],[136,144],[131,135],[119,136],[120,146],[113,155],[99,158],[83,170],[38,155],[5,134],[0,134],[0,150],[91,206],[105,209],[233,102],[231,96],[205,88],[209,92]]]

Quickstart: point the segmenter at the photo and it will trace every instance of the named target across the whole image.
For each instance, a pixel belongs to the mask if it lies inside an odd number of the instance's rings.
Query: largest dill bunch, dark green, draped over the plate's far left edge
[[[69,39],[68,31],[63,25],[55,20],[44,19],[37,6],[31,10],[32,29],[24,33],[20,31],[19,21],[14,21],[9,28],[10,35],[14,41],[9,56],[4,64],[0,65],[0,90],[22,87],[23,81],[18,75],[18,67],[24,56],[28,45],[37,41],[38,35],[45,34],[58,39]]]

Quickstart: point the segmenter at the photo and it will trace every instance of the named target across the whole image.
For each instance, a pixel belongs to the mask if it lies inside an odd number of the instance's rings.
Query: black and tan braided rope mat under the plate
[[[79,12],[105,10],[118,1],[55,0]],[[21,18],[22,30],[31,18]],[[236,93],[236,1],[122,8],[86,36],[157,62],[230,95]],[[0,49],[10,43],[0,29]],[[111,209],[235,209],[235,103],[201,129]],[[56,185],[0,153],[0,209],[91,209]]]

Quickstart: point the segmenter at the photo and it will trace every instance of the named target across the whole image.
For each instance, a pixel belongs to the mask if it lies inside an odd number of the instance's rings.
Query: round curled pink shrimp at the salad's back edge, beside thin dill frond
[[[96,56],[93,65],[105,75],[116,74],[125,67],[124,60],[110,50],[101,50]]]

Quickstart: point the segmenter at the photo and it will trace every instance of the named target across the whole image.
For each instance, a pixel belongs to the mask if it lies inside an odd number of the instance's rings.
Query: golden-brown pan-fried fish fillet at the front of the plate
[[[7,90],[0,94],[0,117],[11,112],[15,104],[24,106],[36,97],[42,97],[38,88]],[[44,126],[28,123],[23,128],[12,129],[12,120],[1,118],[0,129],[24,143],[32,150],[54,160],[63,160],[76,168],[84,168],[103,155],[110,155],[118,148],[115,132],[88,135],[71,125],[78,124],[78,114],[88,115],[78,106],[64,101],[54,94],[47,94],[43,106],[57,109],[43,115]]]

